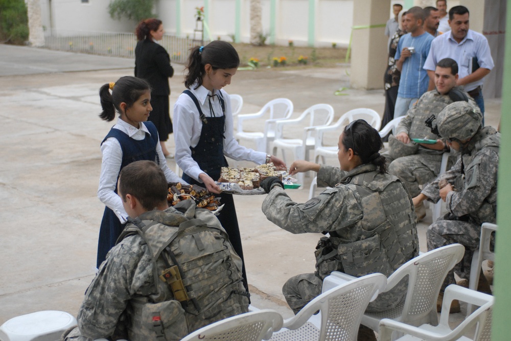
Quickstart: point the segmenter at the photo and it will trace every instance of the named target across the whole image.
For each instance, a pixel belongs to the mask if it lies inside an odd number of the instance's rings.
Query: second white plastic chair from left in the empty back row
[[[276,98],[270,100],[264,107],[255,114],[238,115],[238,132],[235,138],[255,142],[255,150],[267,153],[269,142],[275,137],[275,122],[291,117],[293,113],[293,102],[287,98]],[[246,132],[243,130],[243,122],[267,116],[263,132]],[[253,123],[252,123],[253,124]]]

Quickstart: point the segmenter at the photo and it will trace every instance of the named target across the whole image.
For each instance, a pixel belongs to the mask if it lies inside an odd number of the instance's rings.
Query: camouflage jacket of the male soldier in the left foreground
[[[196,210],[193,200],[185,200],[179,203],[179,208],[181,211],[185,210],[184,213],[178,211],[176,207],[178,206],[169,207],[165,211],[150,211],[142,214],[139,217],[142,223],[154,223],[153,225],[147,225],[147,229],[145,228],[146,240],[140,234],[134,232],[135,234],[128,234],[127,237],[118,241],[118,244],[108,252],[98,274],[87,288],[85,298],[78,312],[77,321],[82,336],[89,339],[111,337],[112,339],[125,338],[140,341],[155,338],[154,335],[161,335],[165,337],[158,339],[178,340],[192,330],[207,324],[210,319],[213,319],[212,322],[216,322],[216,317],[219,319],[225,318],[224,313],[227,316],[233,316],[248,310],[248,298],[235,295],[233,292],[233,288],[239,292],[244,291],[241,283],[242,261],[231,245],[228,244],[227,235],[218,219],[210,211]],[[212,235],[211,237],[214,237],[214,242],[212,242],[207,239],[211,238],[209,235],[212,233],[206,235],[206,233],[200,232],[202,233],[200,234],[201,237],[199,237],[199,232],[193,234],[192,230],[194,228],[198,229],[194,224],[198,222],[206,224],[207,227],[211,225],[220,230],[221,233],[217,233],[219,238]],[[159,273],[155,273],[158,270],[168,268],[163,259],[164,256],[158,256],[156,262],[153,258],[155,257],[154,252],[161,252],[166,242],[169,243],[171,238],[181,235],[177,232],[178,230],[181,231],[181,228],[178,228],[178,226],[182,226],[181,223],[191,223],[190,227],[184,229],[181,234],[193,234],[191,237],[194,238],[189,239],[194,241],[194,246],[197,244],[196,247],[203,251],[200,254],[202,257],[181,264],[179,269],[179,271],[183,270],[185,274],[190,275],[186,278],[182,277],[183,284],[186,286],[190,297],[193,294],[201,304],[200,311],[193,310],[191,304],[187,308],[187,312],[193,312],[191,320],[189,320],[189,314],[185,314],[181,303],[177,301],[178,298],[174,297],[170,286],[158,279]],[[133,229],[131,226],[131,224],[128,225],[126,231]],[[150,227],[152,230],[149,229]],[[151,231],[152,237],[148,235],[149,231]],[[225,238],[220,238],[222,232],[225,233]],[[179,246],[182,244],[187,246],[187,250],[192,250],[193,248],[188,247],[189,244],[185,243],[188,239],[186,241],[184,239],[179,239],[177,242]],[[176,253],[174,259],[180,259],[179,257],[183,253],[187,254],[187,252],[179,252],[179,248],[175,244],[170,244],[168,247]],[[215,252],[216,258],[211,260],[211,264],[206,264],[205,267],[216,272],[199,273],[193,277],[193,271],[204,268],[200,262],[205,261],[204,259],[211,259],[211,257],[206,256],[210,254],[210,251],[212,252],[213,247],[223,249]],[[189,253],[193,252],[192,250]],[[226,255],[230,255],[231,258],[224,262],[223,259]],[[213,261],[216,263],[212,266]],[[219,264],[220,266],[218,266]],[[192,266],[194,267],[193,271],[189,269]],[[224,270],[229,275],[225,276],[224,279],[224,272],[219,270]],[[217,278],[221,275],[220,279]],[[204,276],[207,276],[207,278],[203,278]],[[196,282],[189,283],[188,281]],[[207,285],[208,281],[214,281],[214,283]],[[224,288],[228,289],[225,294],[222,291]],[[207,302],[209,298],[215,299],[215,301]],[[238,301],[242,302],[242,305],[238,304]],[[225,306],[225,303],[228,303],[228,306]],[[206,313],[214,311],[214,313],[211,313],[213,318],[205,317],[204,311]],[[154,312],[161,316],[163,326],[152,328],[152,324],[149,323],[151,326],[148,328],[147,322],[151,321],[151,314],[154,316]],[[83,339],[79,338],[79,340]]]

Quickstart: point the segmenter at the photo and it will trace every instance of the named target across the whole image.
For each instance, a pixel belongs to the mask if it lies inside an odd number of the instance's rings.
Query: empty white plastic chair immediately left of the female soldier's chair
[[[270,340],[356,340],[362,313],[385,282],[384,275],[370,274],[322,293],[285,320],[284,328]],[[320,312],[314,315],[317,310]]]

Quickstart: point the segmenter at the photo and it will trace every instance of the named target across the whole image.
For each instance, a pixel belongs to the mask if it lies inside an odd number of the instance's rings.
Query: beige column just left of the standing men
[[[389,0],[356,0],[353,6],[354,27],[385,24],[390,18]],[[384,32],[384,26],[353,30],[350,76],[352,88],[383,88],[388,41]]]

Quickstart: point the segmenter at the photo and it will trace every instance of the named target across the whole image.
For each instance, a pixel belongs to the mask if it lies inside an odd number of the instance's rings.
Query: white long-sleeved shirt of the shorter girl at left
[[[141,124],[141,128],[137,129],[120,118],[117,120],[117,123],[113,126],[113,128],[121,130],[121,132],[126,133],[130,138],[136,141],[144,140],[146,133],[150,134],[145,124]],[[106,141],[101,145],[101,152],[103,153],[103,160],[101,161],[98,198],[101,202],[108,206],[119,218],[121,223],[124,224],[128,219],[128,214],[124,210],[121,198],[114,192],[123,161],[123,150],[119,140],[113,137],[106,139]],[[159,143],[156,144],[156,152],[158,153],[160,160],[159,166],[165,173],[167,181],[186,183],[169,169]],[[156,162],[156,160],[154,161]]]

